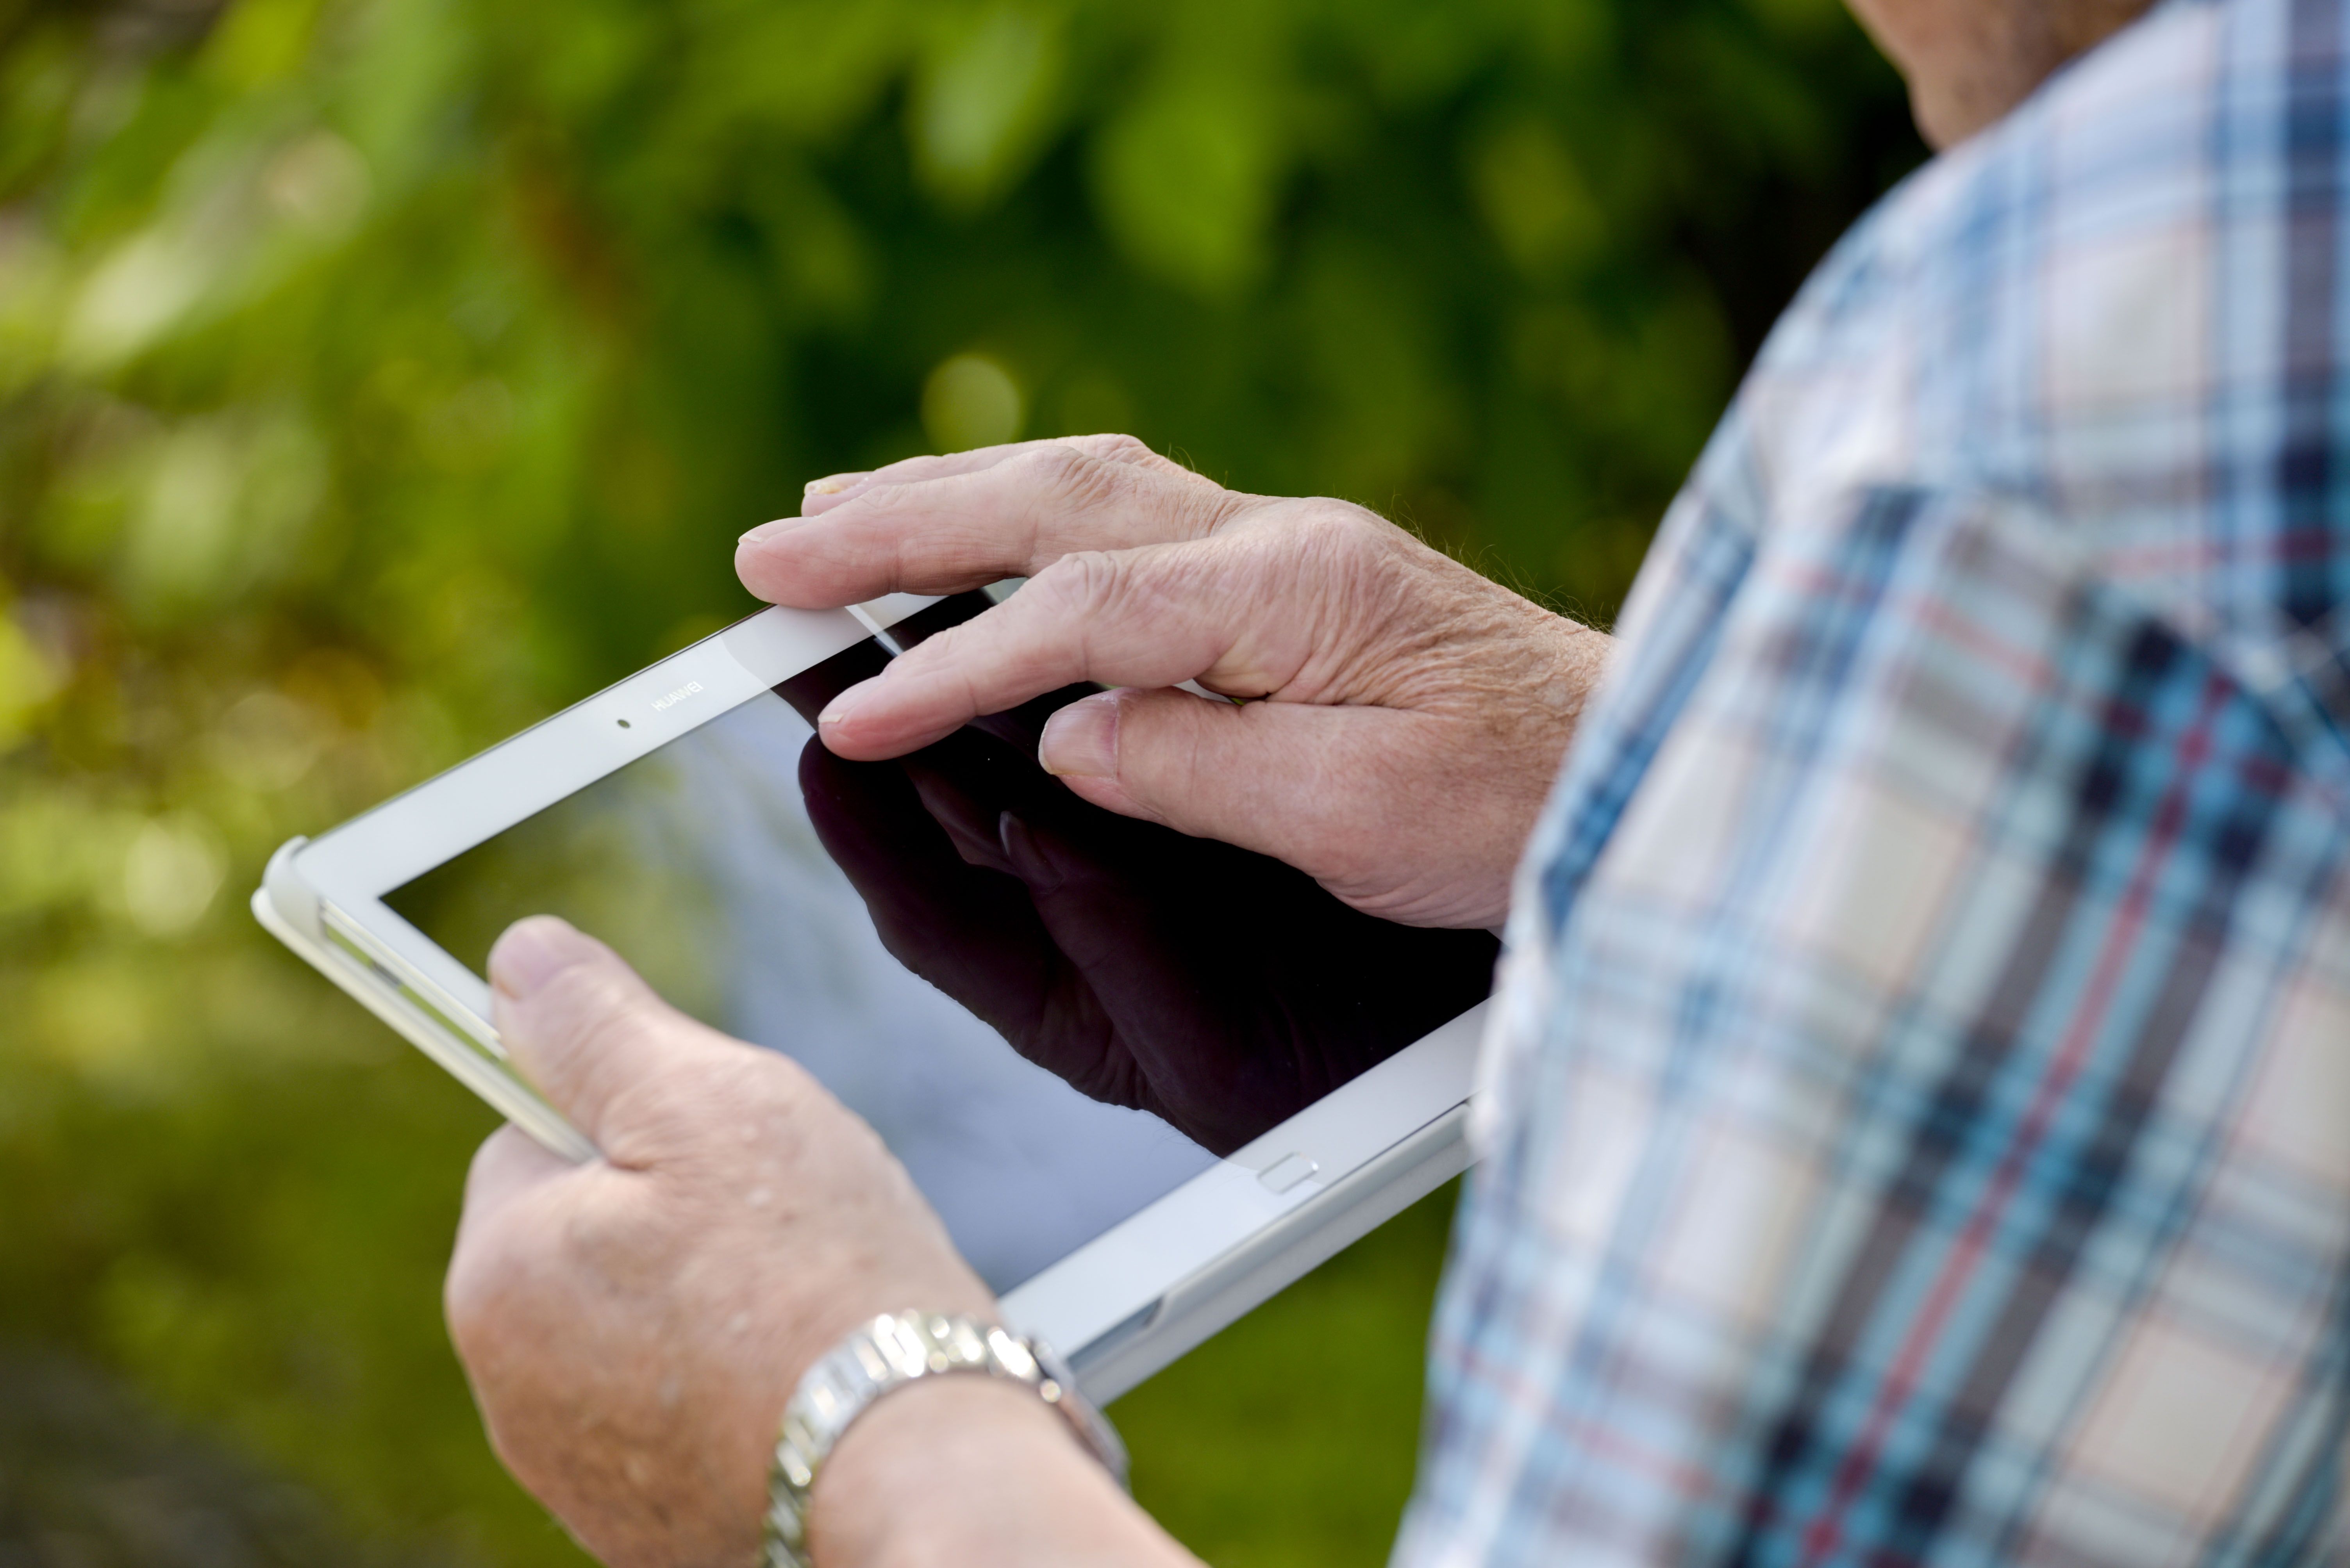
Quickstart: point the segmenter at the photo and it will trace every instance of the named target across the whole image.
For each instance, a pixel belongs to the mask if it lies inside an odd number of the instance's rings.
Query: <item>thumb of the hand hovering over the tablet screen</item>
[[[1382,751],[1412,716],[1121,688],[1046,721],[1036,761],[1100,807],[1283,859],[1340,892],[1384,829]],[[1344,897],[1344,894],[1342,894]]]

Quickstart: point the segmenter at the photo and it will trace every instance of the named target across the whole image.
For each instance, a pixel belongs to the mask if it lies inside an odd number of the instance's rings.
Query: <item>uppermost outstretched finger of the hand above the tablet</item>
[[[987,467],[867,488],[815,519],[752,528],[736,547],[736,573],[759,599],[801,610],[898,592],[959,594],[1034,577],[1065,554],[1203,538],[1253,500],[1168,469],[1041,444]]]

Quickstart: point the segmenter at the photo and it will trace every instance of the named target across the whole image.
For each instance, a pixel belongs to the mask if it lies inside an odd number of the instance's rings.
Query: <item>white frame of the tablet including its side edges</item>
[[[284,845],[254,915],[517,1127],[592,1160],[503,1068],[489,986],[383,894],[928,603],[761,610]],[[1464,1012],[1008,1291],[1006,1322],[1062,1347],[1095,1399],[1159,1371],[1466,1167],[1483,1014]]]

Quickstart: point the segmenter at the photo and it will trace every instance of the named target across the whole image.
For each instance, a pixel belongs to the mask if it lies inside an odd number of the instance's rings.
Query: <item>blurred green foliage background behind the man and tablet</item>
[[[489,1113],[251,925],[280,840],[921,451],[1607,620],[1920,157],[1838,0],[0,0],[0,1566],[583,1561],[439,1326]],[[1448,1209],[1121,1401],[1180,1537],[1379,1561]]]

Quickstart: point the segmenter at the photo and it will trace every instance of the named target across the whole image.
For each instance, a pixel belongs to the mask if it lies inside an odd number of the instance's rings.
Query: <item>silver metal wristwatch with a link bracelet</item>
[[[874,1399],[916,1378],[982,1373],[1036,1390],[1060,1411],[1079,1441],[1126,1486],[1126,1444],[1093,1404],[1076,1392],[1069,1368],[1039,1340],[1008,1333],[975,1317],[893,1312],[858,1326],[808,1368],[783,1408],[776,1462],[766,1474],[764,1568],[808,1566],[808,1488],[825,1455]]]

